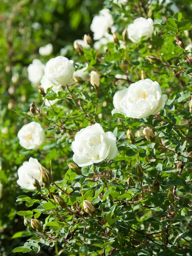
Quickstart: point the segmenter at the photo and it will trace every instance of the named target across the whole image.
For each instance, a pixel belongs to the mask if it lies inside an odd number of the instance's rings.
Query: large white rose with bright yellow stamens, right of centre
[[[113,97],[115,109],[112,115],[123,113],[127,117],[146,118],[158,113],[166,101],[167,95],[161,95],[158,82],[143,79],[115,93]]]

